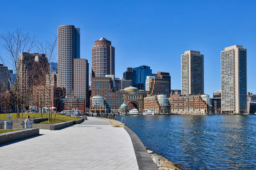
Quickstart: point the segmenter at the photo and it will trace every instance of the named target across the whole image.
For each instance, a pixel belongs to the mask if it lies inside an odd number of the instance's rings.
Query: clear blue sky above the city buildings
[[[0,32],[57,35],[59,25],[81,28],[81,58],[92,64],[94,41],[104,36],[116,49],[116,77],[146,64],[167,71],[180,89],[180,55],[204,54],[205,93],[221,89],[220,52],[247,49],[248,92],[256,93],[256,1],[1,1]],[[1,53],[1,51],[0,51]],[[2,51],[3,53],[3,51]]]

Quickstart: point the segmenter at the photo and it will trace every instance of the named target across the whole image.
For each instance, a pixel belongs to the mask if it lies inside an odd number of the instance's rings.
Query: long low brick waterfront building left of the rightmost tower
[[[204,98],[204,97],[203,97]],[[205,114],[211,112],[211,106],[201,95],[170,95],[169,103],[173,114]]]

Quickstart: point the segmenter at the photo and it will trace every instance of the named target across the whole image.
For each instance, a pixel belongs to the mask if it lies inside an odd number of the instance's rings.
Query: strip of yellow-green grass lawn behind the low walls
[[[8,113],[4,113],[4,114],[0,114],[0,119],[6,119],[8,118],[7,117]],[[17,114],[16,113],[10,113],[10,115],[12,115],[12,118],[17,118]],[[41,118],[42,115],[41,113],[23,113],[23,116],[22,116],[22,113],[20,113],[20,118],[26,118],[27,115],[29,115],[30,118]],[[43,113],[43,118],[47,118],[48,117],[48,113]],[[52,117],[52,121],[54,120],[54,117],[55,117],[55,113],[51,113],[51,117]],[[68,117],[66,115],[60,115],[60,114],[56,114],[56,120],[55,122],[48,122],[48,121],[45,121],[45,122],[41,122],[40,124],[58,124],[58,123],[61,123],[61,122],[67,122],[67,121],[70,121],[70,120],[78,120],[80,118],[76,118],[76,117]]]

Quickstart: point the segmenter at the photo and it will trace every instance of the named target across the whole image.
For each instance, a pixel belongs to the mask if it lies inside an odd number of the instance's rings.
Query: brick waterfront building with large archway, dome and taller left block
[[[92,97],[102,96],[111,110],[116,111],[125,103],[130,108],[143,109],[143,97],[147,96],[144,90],[127,87],[124,90],[115,90],[113,79],[108,77],[92,77]],[[141,102],[142,100],[142,102]]]

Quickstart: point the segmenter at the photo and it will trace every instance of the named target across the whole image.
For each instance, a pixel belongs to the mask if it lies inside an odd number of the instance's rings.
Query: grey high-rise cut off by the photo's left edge
[[[6,92],[10,89],[8,80],[8,67],[0,64],[0,92]]]

